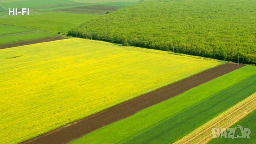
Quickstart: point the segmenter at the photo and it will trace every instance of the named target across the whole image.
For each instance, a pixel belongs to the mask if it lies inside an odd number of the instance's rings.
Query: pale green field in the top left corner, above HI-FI
[[[51,6],[58,4],[72,4],[76,3],[72,0],[2,0],[5,8],[33,8],[38,6]]]

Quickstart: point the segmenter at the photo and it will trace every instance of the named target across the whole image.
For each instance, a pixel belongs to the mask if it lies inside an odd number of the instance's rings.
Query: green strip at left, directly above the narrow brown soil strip
[[[4,38],[0,38],[0,44],[8,43],[8,42],[16,42],[20,40],[31,40],[35,38],[43,38],[47,36],[56,36],[57,34],[53,34],[50,32],[39,32],[39,33],[32,33],[32,34],[22,34],[17,36],[8,36]]]

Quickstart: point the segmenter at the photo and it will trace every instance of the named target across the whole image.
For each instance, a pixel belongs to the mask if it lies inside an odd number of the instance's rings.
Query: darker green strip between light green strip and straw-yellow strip
[[[175,142],[256,92],[256,74],[124,140],[124,144]]]

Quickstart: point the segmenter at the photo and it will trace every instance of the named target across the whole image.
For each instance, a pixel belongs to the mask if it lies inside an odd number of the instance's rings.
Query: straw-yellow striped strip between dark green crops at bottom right
[[[206,144],[213,139],[212,128],[229,128],[254,110],[256,110],[256,93],[216,116],[193,132],[190,132],[174,144]]]

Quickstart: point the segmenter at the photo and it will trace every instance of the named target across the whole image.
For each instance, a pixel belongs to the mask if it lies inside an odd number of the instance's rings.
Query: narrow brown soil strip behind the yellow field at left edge
[[[29,44],[37,44],[37,43],[41,43],[41,42],[50,42],[50,41],[54,41],[54,40],[63,40],[63,39],[66,39],[66,38],[63,36],[49,36],[49,37],[44,37],[44,38],[36,38],[36,39],[32,39],[32,40],[9,42],[9,43],[5,43],[5,44],[0,44],[0,50],[4,49],[4,48],[12,48],[12,47],[16,47],[16,46],[25,46],[25,45],[29,45]]]

